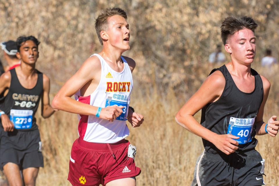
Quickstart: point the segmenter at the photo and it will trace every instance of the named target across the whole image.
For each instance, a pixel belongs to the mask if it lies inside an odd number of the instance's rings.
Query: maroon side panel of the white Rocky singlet
[[[78,101],[81,103],[90,105],[90,95],[85,96],[85,97],[79,96]],[[80,116],[81,116],[81,119],[79,120],[79,123],[78,123],[78,134],[79,134],[79,137],[81,137],[83,139],[86,129],[87,129],[88,115],[80,114]]]

